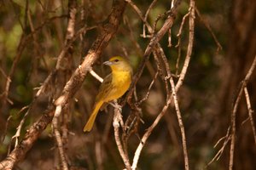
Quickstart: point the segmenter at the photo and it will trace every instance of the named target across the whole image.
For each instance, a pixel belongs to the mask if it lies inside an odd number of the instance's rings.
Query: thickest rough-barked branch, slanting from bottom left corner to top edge
[[[72,99],[73,95],[79,90],[84,81],[84,77],[87,75],[88,71],[90,71],[91,65],[93,65],[96,59],[102,54],[102,50],[107,47],[108,42],[117,31],[125,6],[125,1],[113,1],[111,13],[108,19],[103,22],[96,41],[92,44],[88,54],[84,56],[83,63],[74,71],[61,97],[55,101],[55,105],[61,107],[67,105],[69,99]],[[30,130],[26,133],[26,138],[22,139],[15,150],[12,150],[9,156],[0,162],[1,169],[12,169],[18,161],[21,161],[22,158],[26,156],[26,152],[31,149],[40,133],[42,133],[44,128],[51,122],[53,115],[54,112],[50,111],[30,127]]]

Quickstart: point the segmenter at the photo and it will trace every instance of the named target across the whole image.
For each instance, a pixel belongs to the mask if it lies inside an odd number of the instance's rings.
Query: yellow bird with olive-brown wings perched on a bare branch
[[[112,73],[104,78],[99,93],[96,95],[94,109],[89,121],[84,126],[84,132],[90,132],[98,111],[105,102],[119,99],[131,84],[132,68],[129,62],[120,56],[115,56],[103,63],[111,67]]]

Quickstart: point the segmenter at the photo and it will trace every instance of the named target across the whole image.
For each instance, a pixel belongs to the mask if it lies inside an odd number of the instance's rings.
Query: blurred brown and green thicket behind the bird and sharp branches
[[[133,1],[146,14],[152,3],[148,0]],[[148,14],[148,23],[153,26],[156,18],[170,9],[170,1],[156,1]],[[256,54],[256,3],[253,0],[198,0],[195,5],[201,17],[195,14],[194,48],[189,70],[182,88],[178,91],[178,102],[181,107],[183,123],[187,137],[190,169],[228,169],[230,144],[228,144],[218,161],[212,160],[223,146],[220,142],[230,127],[230,116],[233,99],[241,80],[246,76]],[[79,0],[75,31],[83,27],[97,26],[108,17],[112,2],[102,0]],[[182,1],[177,18],[172,26],[172,47],[168,47],[168,34],[160,44],[168,59],[173,74],[179,73],[183,67],[189,37],[189,19],[185,20],[181,34],[180,48],[176,48],[177,33],[183,16],[188,13],[189,1]],[[57,57],[65,44],[67,29],[68,1],[64,0],[5,0],[0,2],[0,160],[2,161],[13,149],[12,140],[20,120],[26,113],[27,105],[34,100],[38,87],[55,69]],[[165,18],[156,25],[159,30]],[[207,26],[210,26],[212,32]],[[32,32],[34,32],[32,34]],[[83,60],[84,55],[96,39],[98,30],[91,29],[79,35],[73,42],[71,66],[56,79],[62,86],[49,86],[46,92],[37,99],[31,113],[21,130],[21,137],[26,129],[36,122],[48,108],[53,91],[61,91],[74,69]],[[216,36],[222,49],[212,37]],[[93,70],[105,77],[109,68],[102,62],[113,55],[122,55],[131,61],[134,72],[148,45],[149,39],[143,38],[143,21],[137,13],[127,5],[121,25],[102,57],[93,66]],[[27,38],[29,37],[29,38]],[[179,51],[180,50],[180,51]],[[177,63],[177,56],[181,54]],[[137,97],[143,99],[148,86],[157,71],[154,57],[151,56],[143,76],[137,82]],[[9,94],[5,95],[7,77],[11,82]],[[57,76],[56,76],[57,77]],[[60,75],[59,75],[60,77]],[[177,79],[175,79],[177,80]],[[100,85],[94,77],[87,75],[82,88],[75,95],[63,123],[68,129],[64,140],[64,148],[68,164],[72,169],[122,169],[123,161],[119,156],[113,138],[113,108],[102,111],[96,119],[91,133],[83,133],[83,127],[94,103]],[[255,73],[248,82],[252,109],[256,103]],[[50,97],[49,97],[50,96]],[[148,99],[141,105],[144,123],[138,125],[137,134],[131,134],[128,140],[129,156],[132,160],[139,137],[154,122],[166,102],[165,82],[157,77]],[[108,113],[107,113],[108,112]],[[131,113],[129,105],[123,109],[124,119]],[[253,131],[248,121],[248,111],[244,96],[241,98],[236,117],[236,150],[235,169],[255,169],[256,144]],[[256,119],[253,113],[253,119]],[[255,123],[255,121],[254,121]],[[62,127],[61,127],[62,128]],[[4,137],[4,139],[3,139]],[[58,150],[49,125],[42,133],[32,149],[26,154],[15,169],[61,169],[58,163]],[[138,162],[138,169],[183,169],[183,149],[181,133],[178,127],[175,109],[167,111],[160,123],[155,127],[143,148]]]

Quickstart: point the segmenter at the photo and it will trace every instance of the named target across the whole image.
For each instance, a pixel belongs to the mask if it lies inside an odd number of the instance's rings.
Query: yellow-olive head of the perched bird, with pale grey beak
[[[111,67],[112,71],[132,71],[131,65],[123,57],[115,56],[103,63]]]

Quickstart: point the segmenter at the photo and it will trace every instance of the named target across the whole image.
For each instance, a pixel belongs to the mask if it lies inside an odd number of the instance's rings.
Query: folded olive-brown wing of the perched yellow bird
[[[104,78],[100,86],[99,92],[96,96],[96,102],[100,100],[104,101],[104,99],[108,97],[109,92],[113,88],[113,84],[111,82],[112,82],[112,74],[109,74],[107,77]]]

